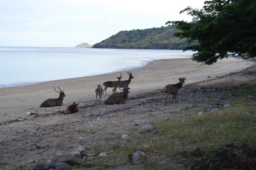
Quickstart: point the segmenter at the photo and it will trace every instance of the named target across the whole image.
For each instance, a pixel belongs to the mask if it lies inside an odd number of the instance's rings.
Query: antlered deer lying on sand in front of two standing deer
[[[124,93],[123,93],[123,96],[112,96],[112,97],[109,97],[107,100],[104,101],[104,104],[124,104],[126,102],[126,99],[128,98],[128,94],[130,93],[128,90],[130,88],[127,87],[127,85],[122,85],[123,86],[123,89],[120,89],[119,86],[118,89],[122,90]],[[120,94],[120,93],[118,93]]]

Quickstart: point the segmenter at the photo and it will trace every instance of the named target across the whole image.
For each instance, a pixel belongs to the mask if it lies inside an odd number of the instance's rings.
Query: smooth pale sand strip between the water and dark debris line
[[[180,59],[160,59],[148,62],[145,66],[134,68],[132,70],[122,71],[122,80],[128,79],[131,72],[132,79],[129,87],[130,96],[152,92],[156,89],[163,89],[167,84],[178,83],[178,77],[186,77],[185,85],[202,80],[208,80],[216,76],[223,76],[230,72],[239,72],[254,65],[254,60],[242,60],[236,58],[223,59],[211,66],[199,66],[199,63],[189,60],[189,58]],[[81,78],[62,79],[47,81],[30,85],[7,87],[0,89],[0,118],[1,121],[14,120],[18,117],[27,116],[27,112],[39,111],[47,113],[52,109],[64,110],[67,105],[75,102],[83,104],[92,104],[96,102],[95,89],[97,84],[102,85],[105,81],[116,81],[119,72],[107,73],[101,75],[87,76]],[[201,79],[200,79],[201,78]],[[66,97],[62,106],[39,108],[40,104],[48,98],[58,98],[59,94],[54,91],[59,86],[64,89]],[[107,89],[108,95],[102,95],[102,101],[112,94],[113,88]],[[119,91],[119,90],[118,90]],[[117,91],[117,92],[118,92]],[[42,111],[40,111],[42,109]]]

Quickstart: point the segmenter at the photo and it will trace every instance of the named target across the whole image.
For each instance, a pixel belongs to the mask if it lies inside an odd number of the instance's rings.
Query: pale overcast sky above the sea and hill
[[[192,21],[187,6],[205,0],[0,0],[0,46],[75,47],[95,44],[121,30]]]

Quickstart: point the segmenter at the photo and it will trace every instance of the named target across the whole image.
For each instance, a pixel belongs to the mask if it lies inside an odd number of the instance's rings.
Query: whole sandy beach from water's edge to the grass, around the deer
[[[127,102],[119,105],[99,104],[99,98],[96,103],[95,95],[97,84],[102,86],[104,81],[116,81],[119,72],[2,88],[0,89],[0,152],[2,153],[0,161],[20,163],[28,162],[31,158],[36,161],[46,161],[58,153],[70,153],[76,149],[79,146],[77,142],[79,136],[85,139],[84,147],[90,149],[94,143],[107,145],[108,142],[101,140],[106,135],[130,133],[127,128],[135,123],[142,126],[170,116],[185,116],[187,112],[176,115],[168,113],[187,104],[204,102],[203,95],[201,97],[199,93],[191,92],[196,84],[198,87],[207,86],[211,89],[218,87],[220,92],[211,95],[221,96],[221,90],[225,86],[240,85],[248,80],[255,81],[255,75],[244,75],[246,71],[253,72],[255,64],[255,59],[242,60],[231,57],[211,66],[200,66],[200,63],[193,62],[189,58],[152,61],[146,66],[122,71],[122,80],[128,80],[129,75],[126,72],[131,72],[134,79],[129,85],[131,89]],[[76,68],[70,71],[76,72]],[[180,90],[177,104],[170,103],[170,96],[167,106],[164,107],[164,94],[158,89],[164,89],[167,84],[178,83],[179,77],[186,77],[184,87],[188,89]],[[40,108],[44,100],[59,97],[53,85],[64,90],[66,97],[63,105]],[[102,102],[112,94],[112,89],[108,88],[107,95],[102,95]],[[118,89],[117,92],[120,90]],[[58,114],[73,102],[82,103],[77,113]],[[138,107],[138,104],[143,107]],[[148,110],[155,115],[149,116]],[[28,116],[27,112],[36,113],[38,116]],[[16,119],[22,121],[10,123],[11,120]],[[35,143],[42,145],[42,149],[36,149]]]

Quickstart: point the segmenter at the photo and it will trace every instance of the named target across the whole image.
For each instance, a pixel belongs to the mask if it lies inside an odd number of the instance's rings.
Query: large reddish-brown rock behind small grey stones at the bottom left
[[[49,167],[50,168],[55,168],[55,165],[57,163],[60,163],[60,162],[67,163],[69,165],[76,165],[76,164],[81,163],[81,159],[79,159],[77,157],[74,157],[74,156],[71,156],[71,155],[66,155],[66,154],[57,155],[54,158],[52,158],[52,160],[49,164]]]

